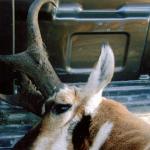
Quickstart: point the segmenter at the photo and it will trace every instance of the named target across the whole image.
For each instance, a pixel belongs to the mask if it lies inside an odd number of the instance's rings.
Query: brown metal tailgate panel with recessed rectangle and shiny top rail
[[[138,77],[149,8],[145,4],[125,5],[117,10],[83,10],[77,4],[60,6],[53,15],[50,35],[54,37],[49,36],[49,40],[52,41],[50,49],[55,49],[60,57],[56,70],[62,79],[85,80],[103,42],[109,42],[115,53],[114,79]]]

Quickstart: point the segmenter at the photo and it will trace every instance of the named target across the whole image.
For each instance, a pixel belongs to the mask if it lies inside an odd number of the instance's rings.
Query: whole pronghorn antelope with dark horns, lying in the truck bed
[[[120,103],[102,97],[114,73],[114,55],[108,44],[85,86],[62,83],[43,46],[38,12],[43,4],[57,7],[54,0],[35,0],[28,13],[28,49],[0,56],[0,62],[21,72],[22,90],[0,97],[42,117],[14,150],[149,150],[150,125]],[[34,84],[35,85],[34,85]]]

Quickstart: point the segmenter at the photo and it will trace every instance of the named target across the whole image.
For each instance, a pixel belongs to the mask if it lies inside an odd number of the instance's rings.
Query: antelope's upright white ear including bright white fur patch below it
[[[114,64],[114,55],[111,47],[108,44],[102,45],[101,55],[84,88],[87,113],[94,112],[101,103],[103,89],[112,79]]]

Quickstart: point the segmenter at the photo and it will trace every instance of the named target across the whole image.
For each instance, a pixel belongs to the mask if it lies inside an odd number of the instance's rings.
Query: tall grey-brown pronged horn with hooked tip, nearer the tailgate
[[[0,55],[0,62],[25,73],[35,83],[41,94],[48,98],[62,83],[48,60],[39,30],[38,13],[46,3],[54,5],[55,1],[35,0],[29,9],[28,34],[31,41],[27,50],[15,55]]]

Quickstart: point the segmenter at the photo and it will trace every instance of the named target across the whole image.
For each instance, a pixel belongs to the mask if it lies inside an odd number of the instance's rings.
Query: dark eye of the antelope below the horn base
[[[51,111],[53,114],[59,115],[69,110],[71,106],[71,104],[54,104]]]

